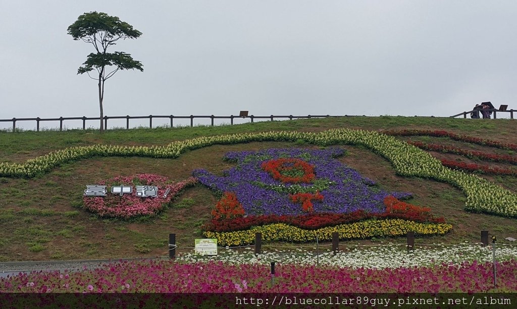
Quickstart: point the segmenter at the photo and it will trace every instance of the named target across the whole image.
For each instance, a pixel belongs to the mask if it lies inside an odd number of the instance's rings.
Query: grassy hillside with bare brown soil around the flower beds
[[[511,120],[472,120],[423,117],[343,117],[293,121],[264,121],[234,126],[197,126],[185,128],[132,129],[108,131],[67,132],[0,132],[0,162],[23,163],[27,159],[74,146],[94,144],[165,145],[172,141],[222,134],[300,131],[320,132],[331,128],[364,130],[430,129],[445,130],[472,137],[505,143],[517,143],[517,129]],[[514,151],[452,140],[446,137],[397,137],[405,141],[439,143],[470,151],[515,155]],[[221,174],[232,166],[223,161],[228,151],[262,150],[268,148],[313,147],[304,142],[250,142],[214,145],[189,151],[176,159],[144,157],[97,157],[69,162],[33,179],[0,178],[0,261],[116,258],[164,255],[169,233],[177,234],[178,246],[193,247],[194,238],[202,238],[201,225],[210,218],[216,203],[212,192],[201,186],[188,188],[173,205],[155,219],[124,221],[102,219],[81,208],[85,185],[94,184],[118,175],[155,173],[181,181],[192,170],[204,168]],[[517,221],[463,210],[466,198],[457,188],[417,177],[401,177],[394,173],[388,161],[364,147],[339,145],[348,151],[340,160],[362,175],[372,178],[387,191],[410,191],[409,202],[432,208],[433,214],[444,216],[453,225],[445,236],[418,239],[417,242],[459,243],[479,241],[480,230],[504,239],[517,238]],[[505,162],[483,161],[450,153],[431,152],[437,158],[458,162],[483,163],[513,169]],[[512,192],[517,192],[514,175],[480,176]],[[403,242],[405,239],[372,239],[349,241],[371,243],[377,241]]]

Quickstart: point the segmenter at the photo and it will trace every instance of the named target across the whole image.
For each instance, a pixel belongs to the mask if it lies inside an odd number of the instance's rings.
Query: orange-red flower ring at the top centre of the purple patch
[[[282,183],[310,183],[314,180],[314,166],[297,158],[280,158],[263,162],[262,169]],[[288,171],[300,171],[302,176],[286,175]]]

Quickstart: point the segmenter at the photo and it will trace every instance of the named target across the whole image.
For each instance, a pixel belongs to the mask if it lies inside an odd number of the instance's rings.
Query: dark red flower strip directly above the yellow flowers
[[[382,214],[366,213],[357,210],[347,214],[307,214],[301,216],[248,216],[232,220],[212,220],[205,224],[203,229],[211,232],[232,232],[248,230],[251,226],[266,225],[271,223],[291,224],[301,229],[316,230],[326,226],[353,223],[368,219],[405,219],[416,222],[445,223],[443,217],[434,218],[430,214],[430,208],[419,207],[401,202],[394,197],[384,200],[386,212]]]

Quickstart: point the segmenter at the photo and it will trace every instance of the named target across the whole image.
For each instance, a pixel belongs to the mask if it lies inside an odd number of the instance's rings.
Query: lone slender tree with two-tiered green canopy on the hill
[[[102,101],[106,80],[118,70],[137,69],[144,71],[142,63],[133,60],[130,54],[124,52],[107,53],[106,50],[111,45],[116,45],[116,41],[128,38],[136,39],[142,35],[142,32],[133,29],[130,24],[120,21],[116,16],[110,16],[102,12],[89,12],[82,14],[77,21],[68,27],[68,34],[76,41],[81,39],[86,43],[91,43],[97,51],[97,53],[88,55],[86,61],[77,70],[77,74],[87,73],[90,78],[99,81],[100,132],[102,133],[104,131]],[[108,69],[111,71],[107,73],[107,67],[115,68]],[[98,77],[90,76],[89,72],[94,70],[97,70]]]

